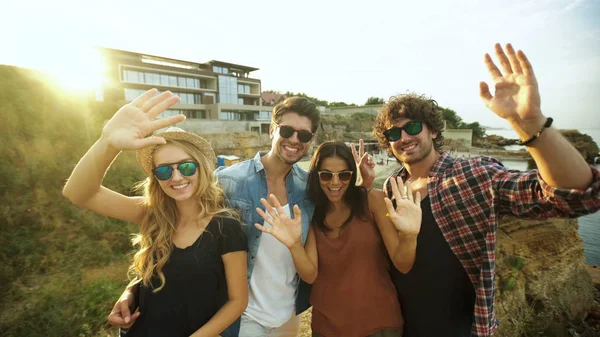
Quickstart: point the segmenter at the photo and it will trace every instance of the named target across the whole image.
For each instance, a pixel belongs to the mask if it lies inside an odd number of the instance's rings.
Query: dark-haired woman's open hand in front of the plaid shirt
[[[385,198],[390,220],[400,234],[417,236],[421,231],[421,193],[414,197],[411,184],[404,188],[402,178],[390,179],[392,194],[396,200],[396,209],[389,198]]]

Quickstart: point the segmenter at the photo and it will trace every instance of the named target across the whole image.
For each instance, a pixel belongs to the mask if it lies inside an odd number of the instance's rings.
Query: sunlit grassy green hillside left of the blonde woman
[[[126,284],[135,226],[71,205],[61,188],[116,106],[0,66],[0,335],[96,336]],[[143,176],[121,156],[106,185]],[[102,334],[106,336],[106,333]]]

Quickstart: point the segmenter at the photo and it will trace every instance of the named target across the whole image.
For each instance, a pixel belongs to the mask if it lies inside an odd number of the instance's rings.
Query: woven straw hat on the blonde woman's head
[[[183,129],[178,127],[170,127],[164,132],[156,133],[155,136],[163,137],[165,140],[173,139],[173,140],[182,140],[186,141],[195,147],[197,147],[202,155],[207,157],[211,162],[217,162],[217,156],[215,155],[215,151],[212,149],[210,144],[206,141],[206,139],[190,133],[186,132]],[[136,159],[138,164],[144,169],[144,172],[148,176],[151,176],[152,169],[154,168],[154,164],[152,163],[152,157],[154,156],[154,151],[159,145],[152,145],[148,147],[141,148],[136,152]]]

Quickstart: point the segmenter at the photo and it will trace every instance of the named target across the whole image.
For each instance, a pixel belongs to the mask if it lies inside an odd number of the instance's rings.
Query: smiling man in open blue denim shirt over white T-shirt
[[[314,204],[308,199],[308,172],[296,163],[308,152],[320,123],[316,105],[303,97],[290,97],[273,108],[269,133],[272,144],[266,153],[216,171],[229,205],[240,212],[248,236],[248,307],[242,317],[222,333],[237,336],[297,336],[298,315],[310,307],[310,286],[296,273],[289,249],[270,235],[261,235],[254,224],[264,224],[256,208],[261,198],[273,194],[289,216],[298,205],[302,215],[302,244],[306,242]],[[287,207],[285,207],[287,205]],[[128,327],[139,313],[130,315],[135,303],[130,285],[109,315],[109,323]]]

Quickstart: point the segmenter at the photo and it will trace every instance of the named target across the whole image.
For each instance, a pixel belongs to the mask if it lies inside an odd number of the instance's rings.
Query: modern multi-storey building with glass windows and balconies
[[[263,106],[258,70],[223,61],[197,63],[99,48],[107,62],[105,101],[129,102],[151,88],[170,90],[179,104],[159,117],[184,114],[180,126],[201,133],[268,133],[271,107]]]

